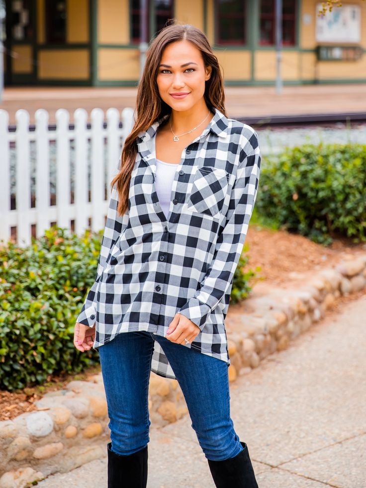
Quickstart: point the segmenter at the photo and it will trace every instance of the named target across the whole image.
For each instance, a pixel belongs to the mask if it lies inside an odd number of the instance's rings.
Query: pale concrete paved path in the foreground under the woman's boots
[[[366,296],[231,385],[260,488],[366,487]],[[204,414],[204,405],[202,414]],[[188,415],[151,426],[148,488],[214,488]],[[39,488],[105,488],[106,459]]]

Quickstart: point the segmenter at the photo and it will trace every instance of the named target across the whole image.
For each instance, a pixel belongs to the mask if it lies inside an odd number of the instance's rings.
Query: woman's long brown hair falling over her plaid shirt
[[[128,208],[129,186],[136,160],[136,139],[138,134],[147,130],[154,122],[172,111],[172,108],[160,97],[156,83],[162,54],[168,44],[175,41],[188,40],[199,49],[205,67],[211,66],[212,68],[211,76],[205,82],[204,99],[207,107],[211,111],[217,108],[226,115],[223,77],[220,65],[212,52],[207,37],[193,25],[178,24],[175,19],[172,20],[174,23],[164,27],[151,40],[146,51],[145,66],[137,89],[136,121],[123,145],[120,171],[110,183],[111,189],[114,184],[117,184],[116,188],[119,195],[117,212],[119,215],[124,214]]]

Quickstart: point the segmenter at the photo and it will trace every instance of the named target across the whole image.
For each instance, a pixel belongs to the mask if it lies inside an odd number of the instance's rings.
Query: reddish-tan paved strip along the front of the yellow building
[[[135,106],[137,90],[131,88],[91,87],[36,87],[5,88],[0,108],[9,112],[10,123],[15,123],[15,111],[25,108],[34,121],[37,108],[50,113],[55,120],[58,108],[73,112],[83,107],[88,112],[94,107]],[[314,113],[366,112],[366,84],[285,86],[276,95],[275,87],[226,87],[226,107],[229,117],[295,115]],[[71,114],[71,121],[73,115]]]

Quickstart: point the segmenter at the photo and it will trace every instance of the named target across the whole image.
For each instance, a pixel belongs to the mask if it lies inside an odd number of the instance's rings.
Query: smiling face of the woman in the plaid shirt
[[[211,66],[204,66],[194,44],[187,40],[172,42],[163,51],[156,78],[160,97],[173,110],[188,110],[203,97],[210,75]]]

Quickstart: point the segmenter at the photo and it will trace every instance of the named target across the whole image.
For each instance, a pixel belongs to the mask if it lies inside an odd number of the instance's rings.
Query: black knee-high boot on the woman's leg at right
[[[216,488],[258,488],[248,446],[240,442],[243,451],[234,458],[223,461],[207,459]]]

